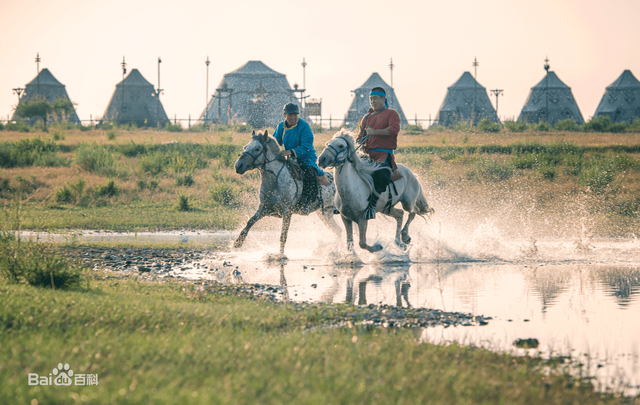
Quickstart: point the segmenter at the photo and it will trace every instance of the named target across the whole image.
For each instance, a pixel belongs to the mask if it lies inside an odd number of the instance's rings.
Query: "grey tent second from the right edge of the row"
[[[556,122],[567,118],[573,119],[577,124],[584,124],[571,87],[564,84],[555,72],[548,72],[540,83],[531,88],[518,121],[547,121],[550,125],[555,125]]]

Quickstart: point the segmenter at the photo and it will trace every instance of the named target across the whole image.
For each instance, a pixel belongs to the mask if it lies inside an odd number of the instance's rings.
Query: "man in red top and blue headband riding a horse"
[[[358,139],[366,137],[362,150],[369,155],[369,159],[382,163],[385,169],[373,173],[374,191],[369,196],[369,206],[364,211],[365,219],[376,217],[376,205],[380,194],[383,193],[391,181],[391,170],[397,169],[393,151],[398,147],[398,132],[400,132],[400,115],[389,108],[387,92],[382,87],[374,87],[369,93],[371,108],[360,121]]]

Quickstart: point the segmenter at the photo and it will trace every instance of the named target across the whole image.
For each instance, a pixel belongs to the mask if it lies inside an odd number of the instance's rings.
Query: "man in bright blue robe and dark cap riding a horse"
[[[283,157],[293,156],[298,160],[302,171],[302,195],[299,207],[304,207],[309,212],[309,205],[318,196],[318,184],[329,185],[329,180],[324,171],[318,167],[316,150],[313,147],[313,132],[309,124],[299,118],[300,110],[294,103],[285,104],[282,115],[284,121],[278,124],[273,137],[276,138],[284,150],[280,151]]]

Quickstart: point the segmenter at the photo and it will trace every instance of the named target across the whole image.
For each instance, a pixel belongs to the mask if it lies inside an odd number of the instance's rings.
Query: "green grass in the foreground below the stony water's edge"
[[[116,275],[117,274],[112,274]],[[529,357],[419,344],[413,330],[313,329],[300,308],[177,282],[92,280],[85,291],[0,284],[2,403],[615,404]],[[59,362],[97,386],[33,387]],[[557,364],[557,363],[556,363]]]

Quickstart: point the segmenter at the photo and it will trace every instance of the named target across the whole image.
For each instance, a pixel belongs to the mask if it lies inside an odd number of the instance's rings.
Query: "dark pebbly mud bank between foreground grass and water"
[[[181,277],[182,271],[200,269],[203,272],[220,271],[202,261],[211,251],[203,248],[178,248],[175,250],[154,248],[126,248],[76,246],[63,251],[94,270],[106,275],[96,275],[102,280],[137,278],[153,282],[180,283],[188,297],[202,299],[208,295],[234,295],[262,300],[276,305],[292,305],[297,309],[319,308],[323,310],[325,326],[339,326],[347,322],[383,328],[434,327],[487,325],[491,317],[469,313],[447,312],[429,308],[404,308],[393,305],[334,305],[322,302],[292,301],[289,299],[286,281],[282,285],[245,284],[237,269],[231,270],[228,282],[198,280]],[[233,267],[226,262],[223,266]],[[339,308],[339,310],[332,310]]]

